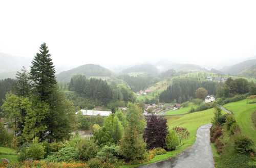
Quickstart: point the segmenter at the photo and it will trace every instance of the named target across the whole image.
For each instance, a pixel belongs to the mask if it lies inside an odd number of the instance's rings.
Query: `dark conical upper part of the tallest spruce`
[[[51,54],[46,43],[41,44],[39,53],[36,53],[30,68],[34,94],[38,96],[40,101],[49,102],[50,95],[56,89],[57,81]]]

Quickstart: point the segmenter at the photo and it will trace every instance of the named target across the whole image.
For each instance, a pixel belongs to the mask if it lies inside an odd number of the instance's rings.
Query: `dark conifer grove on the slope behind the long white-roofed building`
[[[75,75],[71,78],[69,90],[75,91],[81,97],[94,100],[101,105],[108,105],[115,101],[134,102],[135,97],[132,91],[123,87],[109,85],[105,80],[90,78],[84,75]]]

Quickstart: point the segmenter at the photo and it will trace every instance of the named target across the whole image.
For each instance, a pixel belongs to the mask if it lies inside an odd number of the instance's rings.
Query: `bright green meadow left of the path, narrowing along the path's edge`
[[[167,152],[164,155],[157,155],[155,158],[153,158],[151,161],[144,162],[143,164],[138,165],[123,165],[121,167],[135,167],[139,165],[145,165],[161,160],[165,160],[167,158],[173,157],[178,155],[181,151],[185,150],[186,148],[192,146],[196,142],[196,132],[197,128],[209,124],[211,121],[211,118],[214,117],[214,109],[207,109],[203,111],[198,111],[195,113],[190,113],[184,116],[167,116],[165,117],[167,119],[167,124],[169,128],[172,127],[185,127],[190,132],[190,136],[185,142],[185,144],[180,147],[178,150]]]

